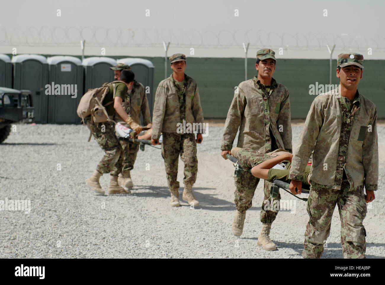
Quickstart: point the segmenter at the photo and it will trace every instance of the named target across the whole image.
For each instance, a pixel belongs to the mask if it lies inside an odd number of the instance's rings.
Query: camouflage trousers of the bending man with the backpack
[[[118,175],[122,170],[122,151],[119,140],[115,136],[115,124],[111,122],[93,123],[87,120],[87,126],[94,135],[100,148],[105,151],[102,160],[96,170],[100,173]]]

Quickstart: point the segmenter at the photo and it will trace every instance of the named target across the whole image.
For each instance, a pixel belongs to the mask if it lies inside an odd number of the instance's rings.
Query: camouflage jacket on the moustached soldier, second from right
[[[278,148],[292,151],[289,91],[274,79],[269,91],[255,76],[234,92],[224,125],[221,150],[230,150],[239,128],[238,147],[271,151],[273,133]]]

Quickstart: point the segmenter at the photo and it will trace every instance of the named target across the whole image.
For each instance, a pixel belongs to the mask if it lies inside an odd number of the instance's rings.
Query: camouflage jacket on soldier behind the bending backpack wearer
[[[130,94],[126,94],[124,101],[122,102],[123,109],[134,120],[134,122],[141,123],[141,113],[143,115],[143,126],[151,123],[151,114],[149,104],[144,92],[144,86],[134,80],[132,91]],[[115,115],[115,119],[123,121],[118,114]]]

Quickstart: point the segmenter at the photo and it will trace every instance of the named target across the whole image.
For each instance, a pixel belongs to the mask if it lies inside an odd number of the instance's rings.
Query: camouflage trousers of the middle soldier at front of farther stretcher
[[[194,184],[198,173],[195,135],[173,132],[163,132],[162,134],[162,157],[166,168],[168,187],[170,189],[179,188],[179,182],[177,181],[179,154],[184,162],[183,183],[185,185]]]

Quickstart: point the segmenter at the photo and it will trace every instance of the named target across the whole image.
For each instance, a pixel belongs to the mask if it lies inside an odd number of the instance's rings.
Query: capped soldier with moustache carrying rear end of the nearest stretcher
[[[272,77],[275,63],[273,50],[258,50],[255,65],[258,76],[241,82],[235,89],[221,143],[221,155],[224,159],[226,154],[231,154],[230,150],[238,128],[237,146],[240,148],[250,148],[261,153],[268,153],[278,148],[292,151],[289,92]],[[236,236],[240,236],[243,232],[246,210],[251,207],[258,182],[259,178],[247,171],[243,171],[240,178],[235,178],[236,214],[232,228]],[[270,185],[268,181],[264,181],[264,201],[260,214],[263,227],[257,242],[265,250],[276,249],[269,238],[269,231],[278,211],[264,210],[264,205],[271,202]],[[277,199],[280,199],[279,195]]]

